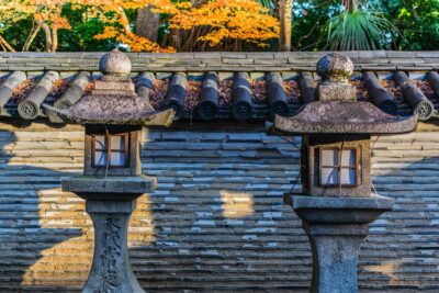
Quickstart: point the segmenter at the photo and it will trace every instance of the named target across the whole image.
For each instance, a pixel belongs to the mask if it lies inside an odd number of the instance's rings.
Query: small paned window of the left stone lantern
[[[128,134],[94,135],[93,167],[127,168]]]

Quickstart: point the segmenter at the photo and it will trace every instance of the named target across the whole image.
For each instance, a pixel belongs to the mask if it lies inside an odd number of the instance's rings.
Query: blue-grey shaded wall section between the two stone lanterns
[[[306,292],[309,245],[282,203],[299,171],[291,145],[263,132],[151,132],[144,172],[156,241],[132,249],[148,292]],[[300,188],[297,185],[296,188]]]

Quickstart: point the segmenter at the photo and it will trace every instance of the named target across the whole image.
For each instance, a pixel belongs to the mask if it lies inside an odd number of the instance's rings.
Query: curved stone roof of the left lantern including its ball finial
[[[102,56],[99,69],[104,75],[93,84],[90,94],[67,109],[44,105],[48,116],[78,124],[125,124],[169,126],[175,111],[155,111],[148,101],[140,99],[128,77],[130,58],[119,49]]]

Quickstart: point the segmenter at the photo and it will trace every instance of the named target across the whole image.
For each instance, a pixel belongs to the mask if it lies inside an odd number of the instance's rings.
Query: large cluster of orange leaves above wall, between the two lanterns
[[[138,9],[146,4],[151,5],[155,13],[169,15],[171,30],[191,31],[206,27],[205,33],[198,36],[196,41],[207,42],[212,47],[230,41],[244,41],[263,47],[267,46],[266,41],[279,37],[279,21],[254,0],[216,0],[199,8],[192,8],[190,2],[172,3],[170,0],[109,1],[99,9],[114,14],[109,18],[108,14],[101,13],[108,25],[104,32],[95,37],[114,38],[128,45],[133,52],[175,52],[172,47],[161,48],[131,31],[124,9]]]

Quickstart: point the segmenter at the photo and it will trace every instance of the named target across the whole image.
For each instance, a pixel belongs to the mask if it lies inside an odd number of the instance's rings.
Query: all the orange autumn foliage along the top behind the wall
[[[66,5],[81,9],[86,11],[87,19],[94,18],[103,23],[103,32],[94,35],[94,38],[114,40],[133,52],[176,52],[172,47],[161,47],[135,33],[134,22],[128,19],[127,12],[148,5],[154,13],[162,15],[162,25],[170,38],[188,32],[194,43],[203,43],[214,49],[233,42],[264,47],[267,41],[278,38],[280,32],[278,19],[271,16],[268,9],[256,0],[210,0],[196,8],[189,0],[1,0],[0,22],[14,23],[32,18],[35,25],[23,50],[43,30],[46,50],[55,52],[57,31],[71,29],[68,15],[63,14]]]

